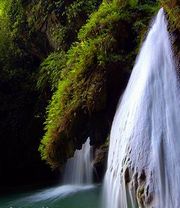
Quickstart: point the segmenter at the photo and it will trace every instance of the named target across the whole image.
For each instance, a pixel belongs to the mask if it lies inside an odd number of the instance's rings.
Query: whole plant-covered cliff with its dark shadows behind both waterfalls
[[[178,46],[179,2],[161,4]],[[0,0],[0,186],[50,177],[40,153],[56,168],[88,136],[95,147],[106,143],[159,7],[153,0]]]

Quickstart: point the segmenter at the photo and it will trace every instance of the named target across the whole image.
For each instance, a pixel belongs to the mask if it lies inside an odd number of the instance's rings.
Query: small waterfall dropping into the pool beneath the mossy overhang
[[[64,184],[92,184],[93,168],[91,165],[92,150],[90,138],[76,150],[74,157],[69,159],[64,173]]]

